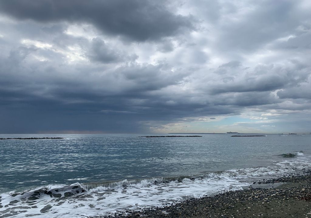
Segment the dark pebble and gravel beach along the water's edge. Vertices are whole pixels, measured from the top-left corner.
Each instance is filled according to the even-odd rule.
[[[265,184],[270,184],[269,187]],[[282,185],[279,185],[282,184]],[[213,197],[192,198],[165,207],[126,211],[95,217],[311,217],[311,171],[262,180],[244,190],[228,191]],[[258,188],[262,185],[263,188]],[[254,188],[256,187],[256,188]],[[94,217],[94,218],[95,218]]]

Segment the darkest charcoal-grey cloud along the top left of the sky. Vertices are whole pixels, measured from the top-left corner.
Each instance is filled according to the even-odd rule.
[[[136,41],[158,40],[192,30],[191,16],[175,15],[164,1],[1,1],[0,10],[17,19],[38,22],[87,22],[106,34]]]

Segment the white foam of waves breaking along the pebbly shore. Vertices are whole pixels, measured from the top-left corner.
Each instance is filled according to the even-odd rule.
[[[303,154],[303,153],[302,153]],[[308,158],[286,158],[269,167],[231,169],[187,178],[152,178],[110,183],[49,185],[1,194],[0,215],[13,217],[87,217],[128,209],[164,206],[250,185],[248,178],[273,176],[311,167]],[[156,181],[156,184],[155,184]],[[166,182],[165,182],[166,181]]]

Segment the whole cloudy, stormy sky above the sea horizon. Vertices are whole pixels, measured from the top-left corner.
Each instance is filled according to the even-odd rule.
[[[309,133],[309,0],[0,0],[0,133]]]

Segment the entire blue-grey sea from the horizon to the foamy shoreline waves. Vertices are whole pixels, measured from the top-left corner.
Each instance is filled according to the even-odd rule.
[[[65,139],[0,140],[0,217],[88,217],[164,206],[311,167],[310,135],[138,136],[146,135],[1,134]]]

